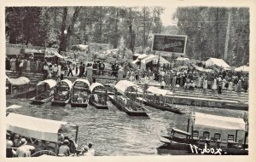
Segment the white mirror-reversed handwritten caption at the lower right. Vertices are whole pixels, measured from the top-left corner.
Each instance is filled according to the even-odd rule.
[[[189,144],[192,153],[201,153],[201,154],[217,154],[221,155],[222,149],[221,148],[208,148],[207,143],[205,143],[205,148],[198,148],[195,145]]]

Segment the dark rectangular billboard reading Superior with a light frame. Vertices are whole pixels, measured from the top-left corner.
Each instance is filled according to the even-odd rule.
[[[185,55],[187,36],[154,34],[153,51]]]

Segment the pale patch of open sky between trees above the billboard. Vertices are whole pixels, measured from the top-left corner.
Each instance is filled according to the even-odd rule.
[[[177,6],[168,6],[166,7],[164,13],[161,14],[161,20],[164,26],[173,26],[177,24],[175,21],[172,20],[172,14],[175,13],[176,9]]]

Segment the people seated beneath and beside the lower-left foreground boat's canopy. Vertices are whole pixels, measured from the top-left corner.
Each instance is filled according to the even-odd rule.
[[[94,156],[95,150],[93,145],[89,143],[80,150],[78,145],[69,139],[68,136],[61,134],[57,150],[57,156]],[[55,153],[55,143],[26,138],[19,134],[7,132],[6,134],[6,157],[31,157],[33,153],[49,150]]]

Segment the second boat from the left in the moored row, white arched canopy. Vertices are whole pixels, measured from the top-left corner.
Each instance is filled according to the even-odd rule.
[[[33,104],[44,104],[48,101],[51,101],[54,96],[54,87],[56,81],[54,79],[46,79],[40,81],[37,84],[37,94],[36,96],[29,99]]]

